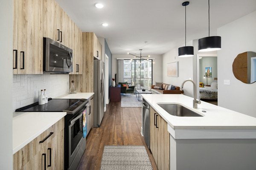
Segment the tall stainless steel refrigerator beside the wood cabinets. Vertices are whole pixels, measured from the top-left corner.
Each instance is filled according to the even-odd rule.
[[[102,60],[94,59],[93,62],[93,127],[99,127],[104,116],[105,100],[105,64]]]

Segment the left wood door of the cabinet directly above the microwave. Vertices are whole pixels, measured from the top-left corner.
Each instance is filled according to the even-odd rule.
[[[44,37],[60,41],[58,26],[58,4],[55,0],[44,0]]]

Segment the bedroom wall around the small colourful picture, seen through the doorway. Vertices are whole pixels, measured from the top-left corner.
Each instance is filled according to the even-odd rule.
[[[212,78],[204,79],[206,67],[212,67]],[[199,81],[203,82],[204,85],[211,85],[214,78],[218,76],[217,69],[217,57],[202,57],[201,59],[199,59]]]

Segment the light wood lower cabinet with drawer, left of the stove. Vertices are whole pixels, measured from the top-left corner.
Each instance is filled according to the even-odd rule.
[[[13,170],[64,169],[64,118],[13,155]]]

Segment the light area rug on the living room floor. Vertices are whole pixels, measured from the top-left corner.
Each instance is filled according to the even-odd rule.
[[[141,102],[138,101],[135,94],[124,94],[121,95],[121,107],[138,108],[141,107]]]

